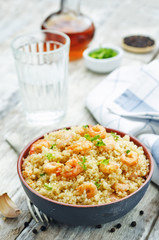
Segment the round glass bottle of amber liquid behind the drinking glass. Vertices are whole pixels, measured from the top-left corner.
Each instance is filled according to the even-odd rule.
[[[41,28],[61,31],[70,37],[70,61],[82,57],[95,31],[92,20],[80,13],[80,0],[61,0],[61,9],[48,16]]]

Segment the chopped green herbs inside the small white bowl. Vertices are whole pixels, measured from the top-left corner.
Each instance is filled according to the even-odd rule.
[[[117,54],[118,52],[112,48],[98,48],[90,52],[89,56],[96,59],[105,59],[115,57]]]

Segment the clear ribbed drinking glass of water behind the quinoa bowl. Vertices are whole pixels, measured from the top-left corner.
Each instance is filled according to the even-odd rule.
[[[52,30],[23,35],[12,42],[24,112],[29,122],[47,125],[64,117],[69,46],[66,34]]]

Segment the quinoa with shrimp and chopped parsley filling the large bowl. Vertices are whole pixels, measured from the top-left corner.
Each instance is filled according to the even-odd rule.
[[[39,194],[58,202],[99,205],[136,191],[149,173],[149,160],[130,137],[100,125],[46,134],[23,159],[22,174]]]

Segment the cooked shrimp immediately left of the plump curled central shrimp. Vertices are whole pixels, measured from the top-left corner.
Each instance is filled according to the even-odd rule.
[[[56,173],[56,176],[59,176],[62,171],[63,164],[56,162],[48,162],[43,166],[43,170],[47,174]]]

